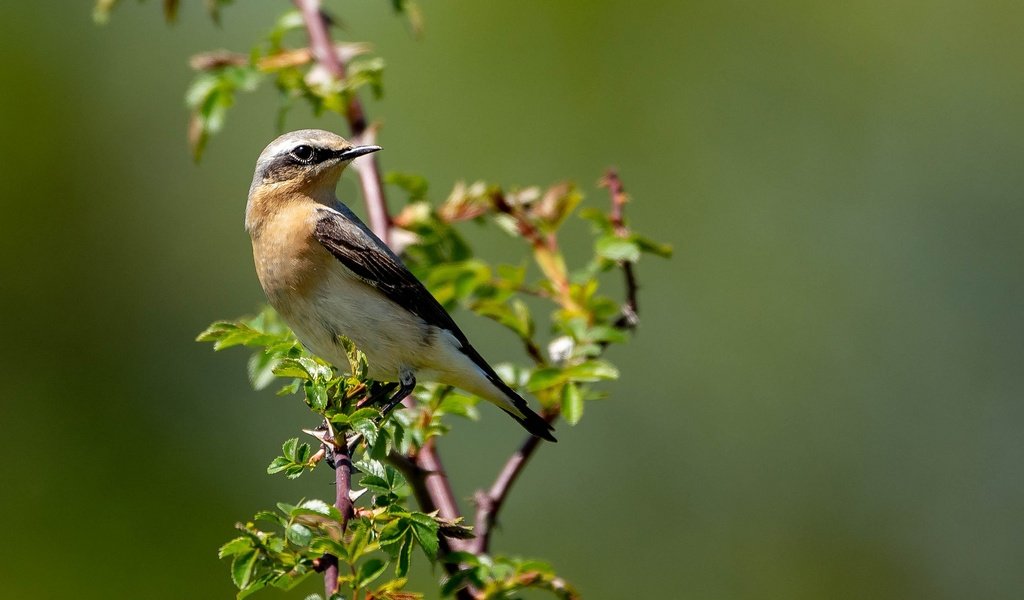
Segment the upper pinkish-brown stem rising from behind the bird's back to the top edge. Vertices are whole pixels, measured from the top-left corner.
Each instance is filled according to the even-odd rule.
[[[294,0],[295,6],[302,13],[309,35],[309,48],[316,61],[338,81],[345,79],[345,63],[338,57],[338,51],[331,40],[328,31],[328,18],[321,10],[319,0]],[[359,143],[374,143],[376,134],[373,128],[367,126],[367,117],[362,112],[362,103],[354,94],[347,97],[345,119],[352,132],[353,140]],[[391,218],[387,211],[387,199],[384,197],[384,185],[381,182],[380,166],[376,156],[361,158],[353,163],[359,175],[362,187],[362,199],[367,205],[370,228],[374,230],[385,244],[391,242]]]

